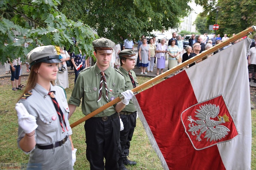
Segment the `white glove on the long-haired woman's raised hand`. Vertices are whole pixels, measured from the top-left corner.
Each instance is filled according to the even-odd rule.
[[[15,109],[18,116],[18,124],[25,133],[31,133],[38,127],[35,116],[29,114],[23,103],[16,103]]]

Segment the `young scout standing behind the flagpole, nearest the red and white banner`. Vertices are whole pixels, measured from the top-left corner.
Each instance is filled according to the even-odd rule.
[[[131,90],[138,86],[137,77],[132,69],[135,66],[135,52],[132,49],[124,49],[119,52],[121,67],[118,69],[124,76],[125,90]],[[135,165],[135,161],[127,159],[129,156],[130,141],[136,127],[136,108],[130,100],[129,104],[119,112],[124,129],[120,132],[121,156],[118,160],[119,170],[127,170],[125,165]]]

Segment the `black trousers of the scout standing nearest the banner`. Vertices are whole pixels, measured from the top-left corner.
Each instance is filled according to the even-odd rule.
[[[137,113],[131,115],[120,115],[123,122],[123,130],[120,131],[121,157],[129,155],[130,141],[133,137],[134,128],[136,127]]]

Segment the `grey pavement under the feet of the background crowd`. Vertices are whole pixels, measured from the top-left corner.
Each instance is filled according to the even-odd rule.
[[[134,52],[136,53],[136,56],[138,56],[138,50],[137,50],[137,47],[134,47]],[[137,61],[137,59],[135,59],[135,61]],[[167,71],[167,66],[168,66],[168,61],[165,62],[165,69],[163,69],[163,72]],[[26,71],[26,65],[23,64],[22,65],[22,75],[21,76],[28,76],[29,73],[27,73]],[[157,68],[154,68],[153,69],[153,72],[148,72],[147,74],[140,74],[141,73],[141,70],[140,69],[137,69],[136,66],[135,68],[133,69],[133,71],[135,72],[136,76],[146,76],[146,77],[156,77],[156,73],[157,73]],[[147,69],[146,69],[147,71]],[[70,70],[70,67],[68,67],[68,73],[69,74],[72,74],[74,73],[74,70]],[[161,73],[159,71],[159,73]],[[177,72],[179,73],[179,72]],[[167,78],[169,77],[172,77],[173,75],[170,75],[170,76],[167,76]],[[10,77],[11,78],[11,73],[8,73],[8,74],[5,74],[5,65],[2,65],[0,64],[0,78],[5,78],[5,77]],[[250,87],[256,87],[256,83],[253,82],[253,80],[251,80],[250,82]]]

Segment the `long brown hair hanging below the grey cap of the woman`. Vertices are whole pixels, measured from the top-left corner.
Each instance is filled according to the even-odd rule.
[[[26,83],[26,88],[23,91],[23,93],[21,94],[21,96],[18,98],[18,101],[20,100],[20,98],[26,94],[27,92],[31,91],[37,82],[37,71],[39,69],[39,67],[41,66],[41,62],[34,64],[33,66],[31,66],[31,70],[30,70],[30,74]],[[52,85],[55,85],[54,81],[51,81]]]

